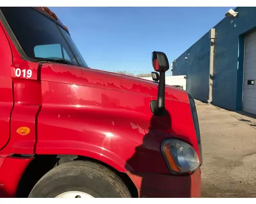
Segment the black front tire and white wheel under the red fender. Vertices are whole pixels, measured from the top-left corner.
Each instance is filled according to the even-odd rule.
[[[36,183],[29,197],[132,197],[120,177],[100,164],[73,161],[61,164]]]

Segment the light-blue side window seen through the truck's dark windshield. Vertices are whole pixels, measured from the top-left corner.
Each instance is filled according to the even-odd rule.
[[[62,50],[63,49],[63,53]],[[71,59],[66,50],[60,44],[36,45],[34,47],[34,55],[38,58],[49,59],[65,59],[71,62]]]

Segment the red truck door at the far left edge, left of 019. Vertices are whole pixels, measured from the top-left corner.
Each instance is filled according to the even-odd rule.
[[[0,149],[5,147],[10,138],[10,116],[13,107],[11,64],[11,47],[0,21]]]

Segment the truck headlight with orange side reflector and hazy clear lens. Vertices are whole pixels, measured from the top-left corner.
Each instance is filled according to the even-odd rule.
[[[196,150],[188,143],[178,139],[164,141],[162,154],[170,170],[177,173],[194,171],[200,165]]]

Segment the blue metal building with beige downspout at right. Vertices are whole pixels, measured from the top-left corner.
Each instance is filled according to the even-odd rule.
[[[194,98],[256,114],[256,7],[237,7],[173,62]]]

